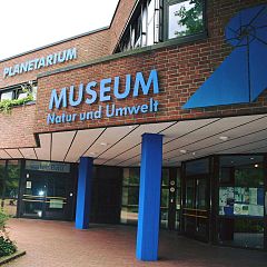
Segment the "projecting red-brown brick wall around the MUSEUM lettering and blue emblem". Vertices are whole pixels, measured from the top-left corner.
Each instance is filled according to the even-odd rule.
[[[142,52],[127,58],[119,58],[85,68],[52,75],[39,79],[38,113],[36,132],[56,131],[76,128],[95,128],[100,126],[113,126],[136,122],[152,122],[178,120],[188,118],[206,118],[220,116],[248,115],[267,111],[266,93],[249,105],[230,105],[225,107],[201,108],[182,110],[181,106],[202,85],[210,73],[221,63],[231,48],[225,42],[224,29],[229,19],[240,9],[266,1],[208,1],[208,33],[205,40],[195,43],[185,43],[168,48],[161,48]],[[63,87],[85,85],[89,81],[100,81],[103,78],[116,76],[125,77],[127,73],[135,75],[144,71],[146,76],[156,68],[159,72],[160,93],[155,99],[160,102],[158,113],[128,116],[120,118],[105,118],[89,120],[87,122],[73,122],[65,125],[47,126],[46,119],[51,89],[60,90]],[[149,97],[128,98],[115,100],[117,107],[126,105],[145,103]],[[102,105],[105,107],[105,103]],[[96,110],[98,103],[81,105],[79,108],[67,108],[60,112],[81,112]],[[59,113],[59,112],[57,112]]]

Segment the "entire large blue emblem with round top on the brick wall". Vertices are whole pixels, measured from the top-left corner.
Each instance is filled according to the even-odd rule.
[[[267,4],[235,16],[226,27],[226,40],[233,52],[184,109],[247,103],[267,89]]]

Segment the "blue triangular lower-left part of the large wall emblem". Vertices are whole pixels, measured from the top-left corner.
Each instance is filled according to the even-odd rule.
[[[182,108],[211,107],[249,101],[246,50],[246,47],[234,50]]]

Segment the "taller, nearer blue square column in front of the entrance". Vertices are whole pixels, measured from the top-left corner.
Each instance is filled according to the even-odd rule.
[[[158,259],[162,136],[142,135],[137,250],[139,260]]]

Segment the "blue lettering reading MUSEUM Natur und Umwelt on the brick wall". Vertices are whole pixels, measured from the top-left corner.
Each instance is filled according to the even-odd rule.
[[[137,98],[147,95],[159,93],[159,82],[157,70],[151,70],[146,81],[142,72],[137,72],[135,76],[127,75],[125,82],[121,82],[120,77],[102,79],[99,82],[90,81],[87,85],[80,83],[77,88],[69,86],[60,91],[52,89],[49,109],[53,112],[48,113],[47,123],[66,123],[73,121],[85,121],[112,117],[126,117],[138,113],[157,112],[159,102],[154,98],[145,100],[144,103],[134,106],[119,105],[119,101],[129,97]],[[102,102],[113,101],[102,106]],[[90,111],[73,113],[63,112],[58,115],[55,110],[67,107],[79,107],[85,103],[91,106],[99,102],[100,105]],[[118,105],[117,105],[118,103]],[[93,106],[96,107],[96,106]]]

